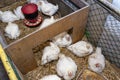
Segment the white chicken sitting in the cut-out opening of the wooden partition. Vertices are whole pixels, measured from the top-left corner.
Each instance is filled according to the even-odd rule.
[[[67,47],[72,43],[72,38],[67,32],[63,32],[55,36],[53,42],[59,47]]]

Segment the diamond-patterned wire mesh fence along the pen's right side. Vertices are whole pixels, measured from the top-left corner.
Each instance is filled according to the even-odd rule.
[[[120,67],[120,21],[93,0],[86,1],[90,4],[86,28],[88,40],[100,46],[105,57]]]

